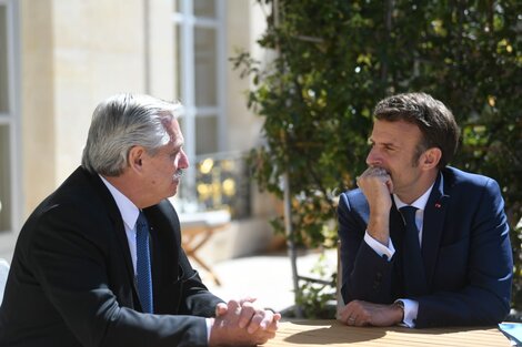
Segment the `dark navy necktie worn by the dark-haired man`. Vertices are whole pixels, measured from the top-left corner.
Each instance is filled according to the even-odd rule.
[[[404,206],[400,208],[405,223],[405,235],[402,247],[404,290],[408,296],[426,293],[424,263],[422,262],[419,229],[415,224],[416,207]]]

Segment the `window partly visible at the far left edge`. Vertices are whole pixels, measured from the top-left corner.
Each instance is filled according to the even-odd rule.
[[[0,0],[0,233],[18,227],[13,0]]]

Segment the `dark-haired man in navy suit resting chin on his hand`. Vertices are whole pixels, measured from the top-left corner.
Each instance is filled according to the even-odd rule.
[[[510,309],[513,259],[498,183],[448,166],[459,127],[423,93],[374,110],[368,169],[341,194],[342,297],[354,326],[492,325]]]

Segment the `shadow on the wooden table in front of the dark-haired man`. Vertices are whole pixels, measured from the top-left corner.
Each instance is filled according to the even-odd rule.
[[[328,327],[324,322],[314,320],[292,320],[298,326],[308,326],[303,331],[292,334],[284,338],[285,341],[295,345],[329,345],[329,344],[351,344],[370,341],[382,338],[389,333],[401,334],[422,334],[428,336],[443,335],[451,333],[465,333],[473,330],[482,330],[484,327],[456,327],[456,328],[429,328],[429,329],[410,329],[405,327],[388,327],[385,329],[379,327],[351,327],[333,320]],[[314,329],[313,326],[318,328]],[[486,327],[492,328],[492,327]]]

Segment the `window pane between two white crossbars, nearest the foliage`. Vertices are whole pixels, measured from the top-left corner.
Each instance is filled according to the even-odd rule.
[[[217,98],[215,30],[194,29],[194,89],[197,106],[213,106]]]

